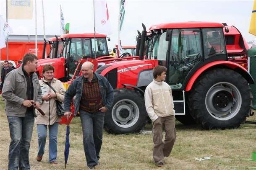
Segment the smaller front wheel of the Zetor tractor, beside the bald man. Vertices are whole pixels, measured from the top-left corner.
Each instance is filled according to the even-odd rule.
[[[147,114],[144,97],[134,90],[114,90],[114,102],[104,118],[104,129],[111,134],[137,133],[144,128]]]

